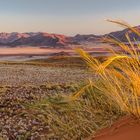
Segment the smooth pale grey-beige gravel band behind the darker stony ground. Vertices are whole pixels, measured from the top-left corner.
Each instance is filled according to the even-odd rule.
[[[0,65],[0,85],[41,85],[82,82],[92,75],[82,68]]]

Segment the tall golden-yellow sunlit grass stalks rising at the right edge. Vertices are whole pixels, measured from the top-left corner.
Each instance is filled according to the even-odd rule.
[[[128,24],[118,21],[110,22],[127,27],[140,36],[140,32]],[[116,53],[114,56],[108,57],[103,63],[98,62],[97,59],[94,60],[81,49],[78,49],[77,52],[96,73],[98,78],[96,78],[97,81],[94,81],[95,86],[103,91],[108,98],[114,100],[122,111],[133,114],[139,118],[140,48],[139,45],[134,46],[128,33],[126,33],[126,39],[129,45],[112,38],[104,38],[107,42],[114,43],[120,47],[122,51],[119,52],[119,54]],[[134,40],[136,39],[134,38]]]

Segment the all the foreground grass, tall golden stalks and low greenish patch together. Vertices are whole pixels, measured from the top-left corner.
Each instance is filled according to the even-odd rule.
[[[116,23],[140,35],[135,28]],[[128,34],[126,38],[130,45],[112,38],[104,39],[122,49],[119,53],[111,50],[113,55],[104,62],[78,49],[95,78],[74,94],[55,95],[30,106],[36,114],[42,114],[42,120],[51,127],[50,137],[83,139],[124,114],[140,118],[139,45],[135,47]]]

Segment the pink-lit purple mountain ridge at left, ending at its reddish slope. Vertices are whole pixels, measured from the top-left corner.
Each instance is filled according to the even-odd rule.
[[[0,33],[0,45],[63,47],[74,44],[70,37],[48,33]]]

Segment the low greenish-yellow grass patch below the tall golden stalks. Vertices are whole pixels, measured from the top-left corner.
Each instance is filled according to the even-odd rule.
[[[94,94],[92,94],[94,92]],[[80,97],[77,97],[80,95]],[[110,100],[92,83],[73,95],[54,95],[30,106],[35,116],[51,128],[47,138],[82,139],[110,125],[119,116],[119,106]],[[112,105],[110,105],[112,104]],[[110,119],[111,118],[111,119]]]

